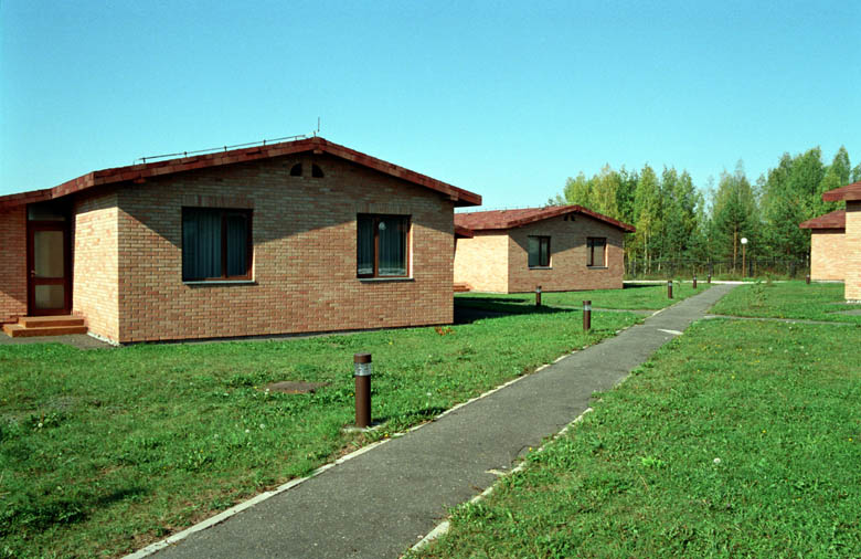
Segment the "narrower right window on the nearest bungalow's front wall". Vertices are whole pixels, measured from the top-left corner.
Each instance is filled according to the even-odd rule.
[[[410,218],[360,214],[357,219],[357,275],[406,277]]]

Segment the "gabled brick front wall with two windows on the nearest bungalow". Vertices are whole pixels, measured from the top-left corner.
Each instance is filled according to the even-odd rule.
[[[304,177],[290,177],[294,164]],[[311,161],[325,178],[311,178]],[[454,208],[330,156],[190,171],[118,191],[119,341],[450,323]],[[253,209],[252,284],[182,282],[181,208]],[[408,214],[412,278],[355,277],[358,213]]]

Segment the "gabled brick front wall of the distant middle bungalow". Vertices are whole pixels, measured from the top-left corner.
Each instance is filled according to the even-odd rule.
[[[536,285],[545,292],[621,288],[623,232],[585,215],[573,218],[551,218],[509,231],[509,293],[531,292]],[[530,235],[550,236],[550,268],[529,267]],[[586,266],[589,236],[607,239],[607,267]]]

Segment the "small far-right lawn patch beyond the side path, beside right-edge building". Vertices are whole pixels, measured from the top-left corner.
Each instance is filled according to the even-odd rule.
[[[736,287],[711,312],[732,316],[861,324],[861,316],[839,314],[840,310],[861,309],[861,305],[847,305],[843,300],[843,284],[758,283]]]

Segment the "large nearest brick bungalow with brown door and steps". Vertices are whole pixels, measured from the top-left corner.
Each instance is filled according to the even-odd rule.
[[[319,137],[94,171],[0,197],[0,323],[74,315],[115,342],[446,324],[454,209],[480,203]]]

